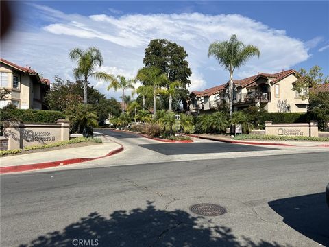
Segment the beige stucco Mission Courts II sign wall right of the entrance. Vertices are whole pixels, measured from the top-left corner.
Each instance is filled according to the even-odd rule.
[[[272,124],[272,121],[265,121],[265,134],[284,137],[318,137],[317,121],[310,121],[310,124]]]

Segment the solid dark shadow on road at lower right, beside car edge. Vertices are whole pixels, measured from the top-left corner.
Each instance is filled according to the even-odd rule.
[[[325,193],[278,199],[269,202],[283,222],[323,246],[329,246],[329,208]]]

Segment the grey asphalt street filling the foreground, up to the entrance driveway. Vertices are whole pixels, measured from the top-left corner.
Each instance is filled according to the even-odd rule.
[[[209,159],[247,152],[230,143],[164,145],[117,135],[129,148],[103,163],[130,163],[138,154],[171,160],[1,176],[1,247],[329,246],[329,152]],[[191,149],[198,159],[172,160]],[[199,203],[226,213],[192,213]]]

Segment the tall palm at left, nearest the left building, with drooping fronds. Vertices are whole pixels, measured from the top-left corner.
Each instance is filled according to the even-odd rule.
[[[77,79],[83,78],[84,82],[84,104],[88,102],[88,78],[95,80],[113,80],[114,76],[104,72],[95,72],[96,67],[103,64],[103,56],[101,51],[96,47],[89,47],[86,51],[80,48],[71,49],[69,57],[73,61],[77,61],[77,68],[73,70],[73,75]]]

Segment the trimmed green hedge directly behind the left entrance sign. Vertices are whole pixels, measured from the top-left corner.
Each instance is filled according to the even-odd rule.
[[[13,120],[23,123],[54,123],[58,119],[65,119],[65,115],[56,110],[1,110],[1,121]]]

